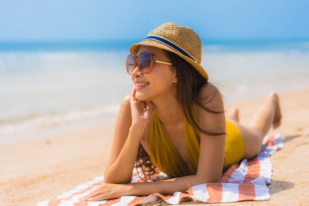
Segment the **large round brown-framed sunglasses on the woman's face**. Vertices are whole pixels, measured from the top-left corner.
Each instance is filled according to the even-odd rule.
[[[129,75],[131,75],[134,68],[138,68],[138,70],[147,74],[153,69],[154,62],[161,64],[173,65],[170,62],[163,62],[159,60],[155,60],[153,55],[149,52],[142,52],[137,57],[134,54],[129,54],[126,58],[126,71]]]

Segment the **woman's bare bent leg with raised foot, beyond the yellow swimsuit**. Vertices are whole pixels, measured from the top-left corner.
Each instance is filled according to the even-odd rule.
[[[253,115],[248,126],[239,124],[236,120],[232,121],[240,130],[244,145],[245,159],[255,157],[261,150],[263,138],[273,128],[280,126],[281,111],[279,98],[275,92],[271,92],[264,105]]]

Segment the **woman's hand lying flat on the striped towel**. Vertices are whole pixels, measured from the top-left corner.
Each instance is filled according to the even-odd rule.
[[[90,194],[81,198],[80,200],[85,201],[99,201],[114,199],[121,196],[125,196],[125,189],[128,186],[125,184],[113,184],[113,183],[102,183],[99,187],[91,191]]]

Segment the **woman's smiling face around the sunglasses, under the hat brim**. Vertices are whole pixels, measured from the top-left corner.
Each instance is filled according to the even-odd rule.
[[[142,52],[149,52],[154,60],[170,62],[162,49],[142,46],[136,56]],[[141,73],[134,68],[131,73],[132,81],[136,89],[136,98],[141,101],[153,101],[154,98],[164,98],[166,95],[174,95],[177,88],[176,69],[173,65],[154,62],[150,73]]]

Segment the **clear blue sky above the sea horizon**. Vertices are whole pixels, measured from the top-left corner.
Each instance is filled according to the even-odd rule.
[[[309,40],[309,1],[0,0],[0,41],[140,40],[165,22],[201,39]]]

